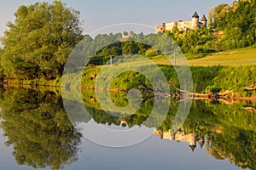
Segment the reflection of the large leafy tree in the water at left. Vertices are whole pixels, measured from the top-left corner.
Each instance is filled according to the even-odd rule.
[[[2,127],[16,161],[59,169],[77,160],[81,134],[69,122],[55,94],[8,89],[0,99]]]

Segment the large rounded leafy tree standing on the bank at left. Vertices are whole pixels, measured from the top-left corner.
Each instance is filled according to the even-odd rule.
[[[20,6],[2,38],[1,65],[9,78],[61,76],[66,59],[82,39],[79,11],[61,1]]]

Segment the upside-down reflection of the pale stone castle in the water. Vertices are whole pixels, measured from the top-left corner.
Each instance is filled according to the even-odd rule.
[[[183,133],[178,131],[175,134],[171,134],[170,131],[163,132],[162,130],[154,129],[154,135],[160,136],[160,139],[176,140],[178,142],[189,142],[189,147],[191,148],[192,151],[195,150],[196,141],[198,142],[201,148],[205,144],[205,138],[198,138],[194,133]]]

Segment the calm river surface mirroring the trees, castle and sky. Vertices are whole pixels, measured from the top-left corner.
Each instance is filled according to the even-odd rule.
[[[113,93],[112,99],[116,105],[127,105],[125,94]],[[73,116],[67,116],[63,100],[73,108]],[[102,111],[93,91],[84,92],[83,101],[77,103],[72,94],[62,99],[53,89],[1,89],[0,169],[256,168],[253,102],[193,102],[186,122],[172,134],[177,105],[170,107],[160,127],[154,127],[157,119],[146,122],[153,99],[145,100],[131,116]],[[88,113],[79,111],[84,106]],[[137,129],[123,142],[144,134],[147,138],[129,147],[102,146],[119,138],[109,139],[99,126],[123,132]]]

